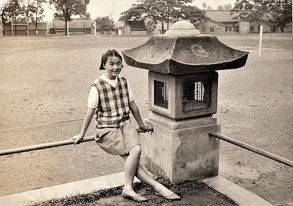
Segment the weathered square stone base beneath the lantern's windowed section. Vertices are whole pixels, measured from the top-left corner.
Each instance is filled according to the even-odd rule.
[[[154,127],[147,134],[145,167],[171,182],[196,180],[218,175],[219,139],[209,131],[220,132],[212,116],[175,121],[150,113],[146,124]]]

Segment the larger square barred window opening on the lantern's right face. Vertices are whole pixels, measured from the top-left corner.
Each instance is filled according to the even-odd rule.
[[[183,112],[193,112],[211,107],[211,81],[188,81],[183,85]]]

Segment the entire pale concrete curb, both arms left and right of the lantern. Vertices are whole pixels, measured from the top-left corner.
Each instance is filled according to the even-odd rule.
[[[139,182],[139,180],[134,178],[134,182]],[[221,176],[207,178],[203,182],[207,183],[219,193],[228,196],[240,206],[272,206],[261,197]],[[120,172],[2,196],[0,197],[0,206],[27,206],[51,199],[88,194],[97,190],[119,187],[123,184],[124,172]]]

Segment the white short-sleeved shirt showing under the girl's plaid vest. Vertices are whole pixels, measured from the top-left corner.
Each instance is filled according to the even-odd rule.
[[[111,80],[111,79],[108,79],[105,74],[103,74],[102,76],[100,76],[100,78],[106,81],[107,83],[109,83],[112,87],[116,87],[118,83],[117,77]],[[98,82],[98,79],[94,81],[94,83],[97,83],[97,82]],[[129,101],[131,102],[133,101],[133,92],[130,88],[128,81],[127,81],[127,85],[128,85]],[[91,86],[89,94],[88,94],[88,99],[87,99],[87,107],[96,109],[98,107],[98,104],[99,104],[99,91],[95,86]]]

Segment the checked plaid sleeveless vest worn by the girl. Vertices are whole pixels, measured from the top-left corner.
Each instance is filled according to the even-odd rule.
[[[121,127],[129,122],[129,93],[124,77],[117,77],[116,87],[99,78],[93,84],[99,91],[99,105],[96,109],[96,127]]]

